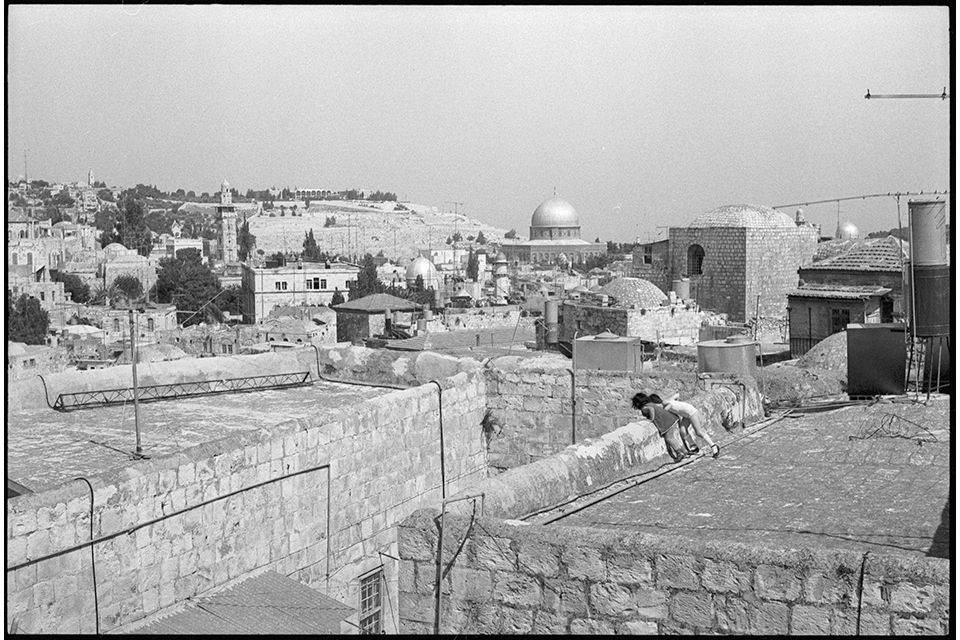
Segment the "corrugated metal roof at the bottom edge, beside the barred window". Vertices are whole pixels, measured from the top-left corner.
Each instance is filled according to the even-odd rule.
[[[353,607],[266,571],[221,592],[192,598],[186,608],[128,633],[146,634],[339,634]]]

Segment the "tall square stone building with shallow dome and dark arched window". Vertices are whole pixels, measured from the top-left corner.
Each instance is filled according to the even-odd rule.
[[[813,260],[819,231],[763,206],[728,205],[670,227],[670,280],[690,278],[704,310],[745,322],[786,315],[797,269]]]

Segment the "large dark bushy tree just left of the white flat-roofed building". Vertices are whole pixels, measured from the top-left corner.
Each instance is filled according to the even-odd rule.
[[[197,324],[218,310],[211,300],[220,292],[220,281],[203,264],[200,251],[181,249],[173,258],[162,258],[153,296],[158,302],[177,305],[177,319],[184,326]]]

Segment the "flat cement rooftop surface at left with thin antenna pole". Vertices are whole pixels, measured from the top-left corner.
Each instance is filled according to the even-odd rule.
[[[391,389],[318,382],[309,387],[161,400],[140,405],[140,442],[154,458],[240,431],[347,407]],[[95,442],[91,442],[95,441]],[[97,444],[100,443],[100,444]],[[34,492],[134,464],[133,404],[7,414],[7,478]]]

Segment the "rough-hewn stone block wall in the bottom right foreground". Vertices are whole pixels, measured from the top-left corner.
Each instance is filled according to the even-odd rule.
[[[434,629],[438,515],[424,509],[400,527],[405,633]],[[464,514],[446,515],[444,528],[442,633],[949,634],[950,561],[940,558]]]

